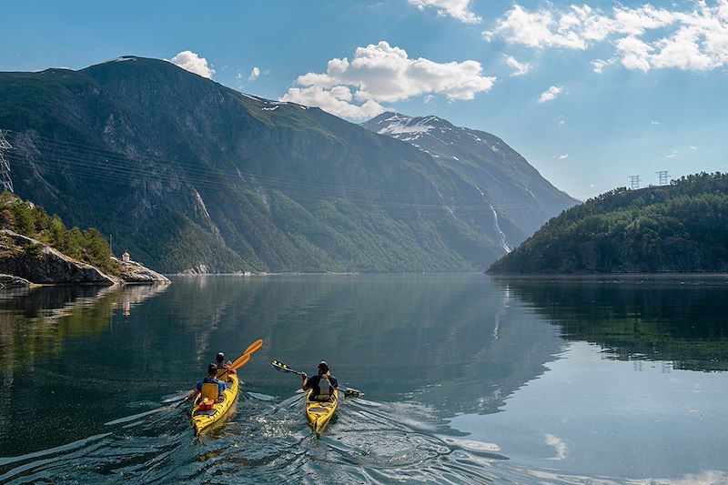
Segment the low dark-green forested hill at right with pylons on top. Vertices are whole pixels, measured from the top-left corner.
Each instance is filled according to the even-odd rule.
[[[491,273],[728,271],[728,174],[592,198],[551,219]]]

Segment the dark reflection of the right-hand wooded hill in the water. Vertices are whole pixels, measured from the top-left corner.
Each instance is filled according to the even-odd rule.
[[[713,276],[498,278],[569,340],[614,359],[728,370],[728,278]],[[639,364],[635,364],[639,367]]]

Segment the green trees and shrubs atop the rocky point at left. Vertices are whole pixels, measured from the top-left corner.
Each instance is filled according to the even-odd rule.
[[[0,225],[38,239],[66,256],[94,265],[106,273],[119,273],[118,265],[111,259],[111,249],[98,230],[68,229],[60,217],[49,216],[43,207],[34,206],[9,192],[0,195]],[[23,250],[26,256],[36,257],[42,248],[39,244],[29,244]]]

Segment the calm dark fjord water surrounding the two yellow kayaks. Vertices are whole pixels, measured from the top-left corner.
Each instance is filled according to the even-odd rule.
[[[241,369],[196,438],[192,387]],[[298,377],[349,387],[321,440]],[[728,482],[728,279],[175,278],[0,293],[0,482]]]

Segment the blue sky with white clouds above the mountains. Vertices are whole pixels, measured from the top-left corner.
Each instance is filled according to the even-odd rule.
[[[501,136],[574,197],[728,170],[728,0],[35,1],[3,16],[3,71],[148,56],[354,122],[437,115]]]

